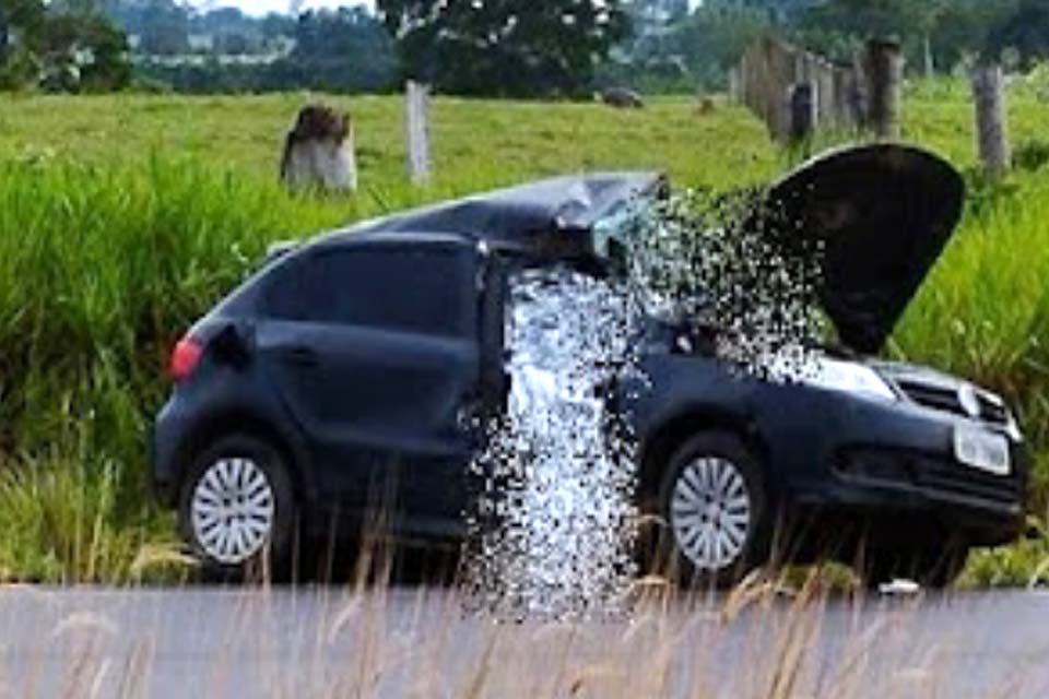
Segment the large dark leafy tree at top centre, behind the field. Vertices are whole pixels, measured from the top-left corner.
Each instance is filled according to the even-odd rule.
[[[378,0],[405,76],[464,95],[579,95],[628,32],[621,0]]]

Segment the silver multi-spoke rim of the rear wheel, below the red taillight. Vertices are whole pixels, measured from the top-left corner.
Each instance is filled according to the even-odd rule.
[[[191,501],[193,535],[208,556],[243,564],[267,545],[275,502],[266,473],[251,459],[220,459],[197,482]]]

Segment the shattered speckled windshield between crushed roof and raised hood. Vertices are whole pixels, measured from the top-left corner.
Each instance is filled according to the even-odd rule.
[[[826,335],[818,245],[785,246],[753,224],[764,202],[761,190],[636,198],[594,225],[594,251],[646,315],[716,331],[726,358],[764,365],[768,356],[822,344]]]

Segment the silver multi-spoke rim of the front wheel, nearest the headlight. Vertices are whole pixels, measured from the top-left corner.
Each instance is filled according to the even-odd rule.
[[[671,496],[671,524],[679,548],[699,570],[735,564],[751,526],[751,494],[731,461],[696,459],[682,469]]]

